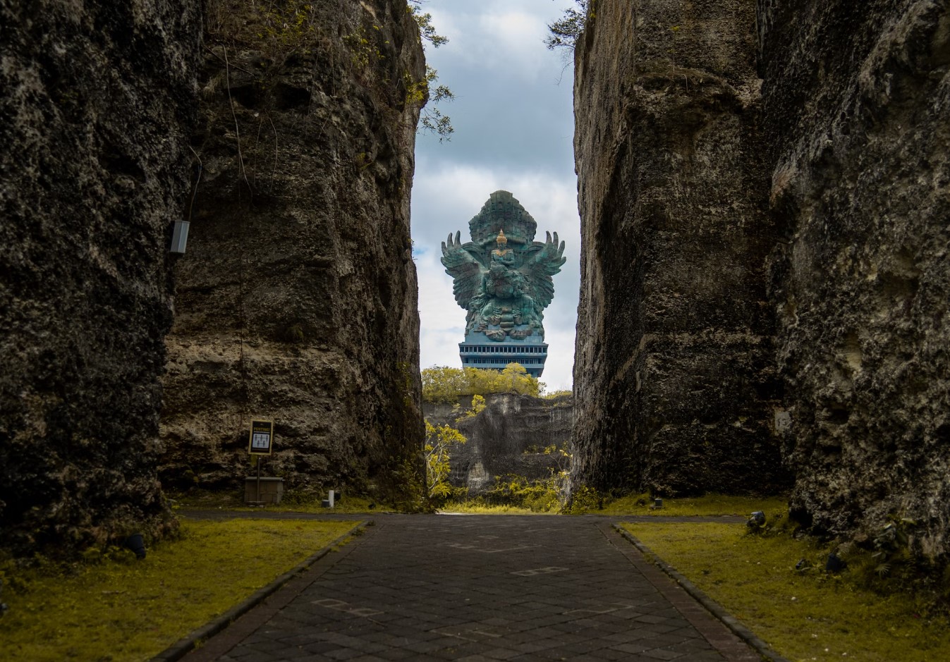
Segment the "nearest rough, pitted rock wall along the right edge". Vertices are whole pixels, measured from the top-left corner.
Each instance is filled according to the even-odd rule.
[[[761,3],[793,512],[950,546],[950,13]]]

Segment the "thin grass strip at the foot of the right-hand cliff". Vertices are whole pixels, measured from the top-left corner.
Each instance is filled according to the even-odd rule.
[[[706,494],[702,497],[682,499],[663,499],[662,508],[653,508],[653,500],[647,494],[632,494],[604,503],[602,510],[591,509],[595,515],[697,515],[714,517],[718,515],[741,515],[749,517],[753,511],[761,510],[769,517],[788,512],[788,499],[785,497],[733,497],[725,494]]]

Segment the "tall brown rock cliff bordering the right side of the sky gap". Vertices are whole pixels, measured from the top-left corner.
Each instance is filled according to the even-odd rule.
[[[578,43],[574,484],[786,484],[750,2],[597,6]]]

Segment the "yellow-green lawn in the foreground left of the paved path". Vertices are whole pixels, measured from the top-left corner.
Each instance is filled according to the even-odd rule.
[[[354,521],[181,522],[137,560],[112,548],[68,568],[2,575],[10,611],[0,619],[9,662],[147,660],[340,538]]]

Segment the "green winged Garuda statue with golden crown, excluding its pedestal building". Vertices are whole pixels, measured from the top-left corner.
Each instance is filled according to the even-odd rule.
[[[538,223],[507,191],[491,194],[468,221],[472,240],[461,232],[442,244],[442,263],[455,279],[453,293],[466,309],[466,335],[482,331],[491,340],[544,337],[543,311],[554,298],[551,276],[566,258],[558,233],[535,241]]]

